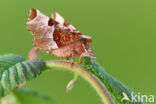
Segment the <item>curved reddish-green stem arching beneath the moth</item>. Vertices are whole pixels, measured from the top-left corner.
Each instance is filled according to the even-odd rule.
[[[113,104],[113,101],[110,95],[108,94],[108,91],[103,86],[103,84],[97,79],[97,77],[95,77],[93,74],[88,72],[83,67],[65,61],[47,61],[46,67],[48,69],[62,68],[77,73],[82,78],[86,79],[93,86],[93,88],[97,91],[97,93],[101,97],[101,100],[103,101],[104,104]]]

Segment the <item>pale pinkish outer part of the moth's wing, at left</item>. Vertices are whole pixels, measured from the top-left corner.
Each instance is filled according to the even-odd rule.
[[[58,48],[56,42],[53,40],[55,25],[52,24],[53,26],[49,26],[49,21],[55,23],[54,20],[51,20],[40,11],[31,9],[26,26],[34,36],[34,45],[47,52]]]

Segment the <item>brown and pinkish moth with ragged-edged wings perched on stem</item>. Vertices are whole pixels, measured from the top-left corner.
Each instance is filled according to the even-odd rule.
[[[37,9],[30,9],[26,28],[34,37],[34,46],[45,52],[65,59],[93,56],[89,48],[91,37],[82,35],[58,13],[50,18]]]

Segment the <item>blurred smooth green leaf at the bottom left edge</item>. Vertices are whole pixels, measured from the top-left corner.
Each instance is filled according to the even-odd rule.
[[[18,89],[1,100],[2,104],[53,104],[52,99],[33,90]]]

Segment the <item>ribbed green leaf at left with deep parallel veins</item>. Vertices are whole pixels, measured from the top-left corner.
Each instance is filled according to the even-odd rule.
[[[13,54],[0,56],[0,97],[37,77],[43,69],[42,60],[25,60]]]

